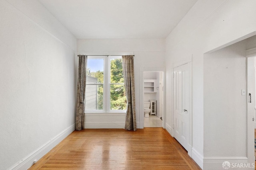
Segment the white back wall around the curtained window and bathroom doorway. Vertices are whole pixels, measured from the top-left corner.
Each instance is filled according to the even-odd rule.
[[[140,68],[164,67],[165,40],[164,39],[78,39],[78,54],[115,54],[133,53],[135,101],[137,128],[140,128]],[[125,113],[97,114],[85,116],[86,128],[124,128]],[[141,113],[144,114],[144,113]]]

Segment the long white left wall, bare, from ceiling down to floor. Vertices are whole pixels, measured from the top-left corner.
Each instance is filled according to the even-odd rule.
[[[0,169],[27,169],[74,131],[76,38],[38,1],[0,16]]]

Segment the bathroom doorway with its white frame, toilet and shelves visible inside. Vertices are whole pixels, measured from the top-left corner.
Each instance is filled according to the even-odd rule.
[[[145,84],[144,84],[144,80],[145,80]],[[162,68],[162,67],[140,68],[140,128],[141,129],[143,129],[144,127],[165,128],[165,117],[166,117],[165,98],[166,98],[165,68]],[[148,117],[145,117],[145,112],[144,112],[145,102],[150,103],[149,106],[146,106],[146,107],[149,107],[150,109],[150,112],[148,113]],[[152,109],[155,109],[155,111],[152,111]]]

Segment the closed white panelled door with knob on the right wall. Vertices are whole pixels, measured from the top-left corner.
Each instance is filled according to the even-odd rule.
[[[186,149],[189,146],[190,66],[174,68],[174,138]]]

